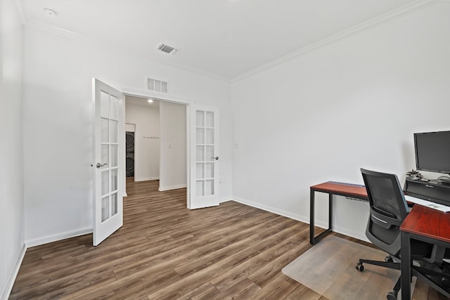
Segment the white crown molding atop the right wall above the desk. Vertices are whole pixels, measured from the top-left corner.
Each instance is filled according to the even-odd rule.
[[[264,65],[261,65],[259,67],[256,67],[253,70],[250,70],[248,72],[245,72],[243,74],[240,74],[236,77],[233,77],[231,79],[231,83],[240,81],[242,79],[245,79],[247,77],[252,76],[253,74],[257,74],[259,72],[262,72],[264,70],[270,69],[271,67],[275,67],[276,65],[280,65],[281,63],[284,63],[285,61],[292,60],[293,58],[297,58],[298,56],[301,56],[304,53],[307,53],[309,51],[316,50],[317,48],[320,48],[322,46],[328,45],[333,43],[333,41],[338,41],[339,39],[343,39],[344,37],[348,37],[352,34],[356,34],[358,32],[361,32],[362,30],[366,30],[369,27],[373,27],[375,25],[378,25],[382,22],[385,22],[387,20],[390,20],[397,15],[401,15],[403,13],[406,13],[407,11],[411,11],[415,8],[419,8],[421,6],[425,6],[426,4],[430,4],[432,2],[439,2],[439,1],[450,1],[450,0],[416,0],[411,2],[410,4],[406,4],[404,6],[401,6],[399,8],[394,9],[393,11],[390,11],[388,13],[385,13],[383,15],[379,15],[378,17],[372,18],[371,20],[368,20],[366,22],[362,22],[359,25],[355,25],[353,27],[348,28],[347,30],[343,30],[342,32],[338,32],[337,34],[330,35],[329,37],[326,37],[325,39],[321,39],[320,41],[316,41],[313,44],[309,44],[308,46],[304,46],[303,48],[300,48],[299,50],[289,53],[286,56],[282,56],[281,58],[277,58],[276,60],[272,60],[269,63],[265,63]]]

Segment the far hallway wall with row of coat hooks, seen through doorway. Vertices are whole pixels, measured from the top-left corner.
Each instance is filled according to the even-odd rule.
[[[145,100],[144,100],[144,103]],[[134,181],[160,178],[160,109],[126,104],[125,122],[136,124],[134,133]]]

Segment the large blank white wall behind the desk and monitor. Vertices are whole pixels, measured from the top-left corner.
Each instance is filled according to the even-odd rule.
[[[449,16],[436,1],[234,82],[233,198],[309,221],[310,185],[403,183],[413,133],[450,129]],[[364,239],[368,204],[336,202],[335,229]]]

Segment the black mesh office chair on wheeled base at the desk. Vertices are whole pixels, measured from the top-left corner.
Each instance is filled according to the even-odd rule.
[[[385,174],[361,169],[361,174],[366,185],[370,216],[366,227],[366,236],[375,246],[387,252],[389,256],[385,261],[372,261],[359,259],[356,269],[363,271],[363,263],[375,266],[383,266],[400,270],[400,226],[409,213],[409,207],[404,198],[399,179],[395,174]],[[411,274],[425,280],[429,285],[446,296],[448,292],[437,282],[450,280],[450,275],[444,274],[439,268],[430,268],[442,264],[442,259],[447,257],[445,248],[433,246],[426,242],[411,240],[411,258],[422,261],[422,266],[413,266]],[[425,268],[425,265],[427,267]],[[442,268],[442,266],[441,266]],[[432,281],[430,277],[432,276]],[[439,280],[436,280],[439,278]],[[387,293],[387,299],[397,299],[401,287],[401,278],[397,280],[392,292]]]

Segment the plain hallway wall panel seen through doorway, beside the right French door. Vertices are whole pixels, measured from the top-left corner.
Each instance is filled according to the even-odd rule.
[[[161,102],[160,190],[186,187],[186,105]]]

